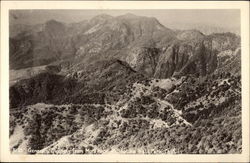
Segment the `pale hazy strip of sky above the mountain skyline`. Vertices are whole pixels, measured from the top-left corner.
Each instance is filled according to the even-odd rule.
[[[240,10],[237,9],[12,10],[10,11],[10,23],[39,24],[50,19],[72,23],[88,20],[99,14],[118,16],[126,13],[155,17],[164,26],[177,29],[193,24],[240,28]]]

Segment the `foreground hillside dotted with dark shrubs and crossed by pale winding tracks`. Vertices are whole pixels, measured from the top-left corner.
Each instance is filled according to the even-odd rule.
[[[225,77],[143,80],[127,86],[113,105],[37,104],[13,110],[11,149],[50,154],[241,153],[240,78]],[[15,132],[22,134],[16,137]]]

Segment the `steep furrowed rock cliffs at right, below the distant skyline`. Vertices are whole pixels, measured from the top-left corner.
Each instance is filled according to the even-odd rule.
[[[158,78],[181,74],[205,76],[216,70],[217,55],[220,52],[226,49],[235,50],[239,45],[239,38],[230,33],[215,36],[204,36],[200,33],[197,36],[192,35],[193,33],[181,33],[184,35],[182,40],[172,42],[167,47],[151,46],[154,49],[151,51],[145,50],[150,49],[148,47],[132,50],[126,61],[136,70],[143,67],[146,74]]]

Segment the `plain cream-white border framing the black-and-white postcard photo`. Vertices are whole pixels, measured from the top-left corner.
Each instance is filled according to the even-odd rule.
[[[11,155],[9,152],[9,9],[240,9],[243,153],[220,155]],[[249,162],[249,2],[247,1],[4,1],[1,2],[0,161]]]

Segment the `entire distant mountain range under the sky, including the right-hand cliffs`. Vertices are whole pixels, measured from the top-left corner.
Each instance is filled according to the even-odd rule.
[[[98,15],[89,21],[69,25],[49,20],[40,25],[39,29],[22,32],[10,38],[11,68],[68,63],[67,65],[72,66],[63,68],[74,71],[84,69],[97,60],[110,58],[126,61],[136,71],[142,70],[149,76],[169,77],[174,73],[181,73],[181,69],[190,69],[184,68],[188,67],[186,63],[192,64],[196,61],[187,58],[194,55],[195,49],[199,48],[202,42],[206,44],[204,50],[208,52],[222,43],[225,43],[223,46],[227,46],[226,49],[237,47],[239,44],[239,37],[234,34],[204,35],[197,30],[175,32],[164,27],[155,18],[133,14],[118,17]],[[180,51],[182,54],[178,54],[178,51],[171,50],[177,47],[181,47],[181,51],[189,52]],[[220,52],[221,49],[217,51]],[[176,54],[180,60],[177,61],[178,65],[169,65],[176,62],[170,61],[169,56]],[[212,55],[213,61],[209,62],[216,65],[216,55]],[[211,59],[209,55],[207,57]],[[161,61],[158,62],[159,58]],[[214,67],[208,67],[207,71],[213,71]],[[162,75],[161,71],[164,71],[165,75]],[[197,68],[192,72],[194,71],[197,71]]]

